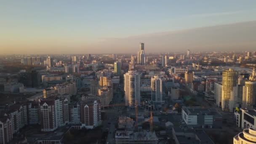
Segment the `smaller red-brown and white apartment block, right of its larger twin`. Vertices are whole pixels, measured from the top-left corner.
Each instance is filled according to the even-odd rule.
[[[101,102],[87,98],[80,102],[82,127],[94,128],[101,124]]]

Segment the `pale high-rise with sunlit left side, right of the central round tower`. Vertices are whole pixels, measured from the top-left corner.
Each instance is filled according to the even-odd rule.
[[[163,82],[165,78],[161,75],[155,75],[151,78],[151,100],[155,102],[163,103],[163,97],[165,95],[163,90]]]

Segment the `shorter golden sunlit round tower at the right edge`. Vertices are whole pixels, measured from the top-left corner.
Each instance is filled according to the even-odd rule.
[[[247,81],[243,86],[243,108],[251,109],[256,104],[256,81]]]

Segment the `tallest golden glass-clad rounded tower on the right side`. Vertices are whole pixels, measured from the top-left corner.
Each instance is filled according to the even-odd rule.
[[[222,73],[221,97],[222,110],[232,112],[237,107],[238,72],[234,69],[229,69]]]

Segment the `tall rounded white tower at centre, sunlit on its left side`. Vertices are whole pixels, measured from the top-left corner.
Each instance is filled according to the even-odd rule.
[[[141,75],[136,71],[128,71],[124,74],[125,106],[135,107],[140,105]]]

